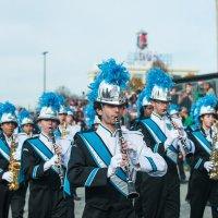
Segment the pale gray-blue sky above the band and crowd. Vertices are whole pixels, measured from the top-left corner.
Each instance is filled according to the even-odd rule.
[[[135,33],[148,33],[150,50],[171,53],[172,66],[216,70],[214,0],[0,1],[0,101],[36,105],[43,90],[65,85],[87,90],[87,72],[135,50]]]

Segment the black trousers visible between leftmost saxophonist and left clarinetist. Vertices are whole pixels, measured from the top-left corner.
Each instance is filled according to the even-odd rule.
[[[26,190],[28,184],[23,184],[17,191],[14,191],[11,197],[12,218],[23,218]]]

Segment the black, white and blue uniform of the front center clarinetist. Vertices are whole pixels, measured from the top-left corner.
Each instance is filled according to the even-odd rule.
[[[143,135],[136,131],[123,131],[124,138],[135,146],[140,169],[150,175],[161,177],[167,165],[161,156],[154,154],[144,143]],[[135,217],[132,202],[126,198],[126,173],[118,168],[108,178],[108,166],[112,156],[119,154],[118,132],[111,133],[102,124],[96,131],[81,132],[75,135],[68,166],[71,185],[85,186],[85,209],[83,218],[95,217]]]

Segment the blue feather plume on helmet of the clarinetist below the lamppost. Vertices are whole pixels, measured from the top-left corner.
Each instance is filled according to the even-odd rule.
[[[43,107],[51,107],[53,110],[58,111],[60,109],[59,97],[56,93],[46,92],[39,97],[38,110]]]

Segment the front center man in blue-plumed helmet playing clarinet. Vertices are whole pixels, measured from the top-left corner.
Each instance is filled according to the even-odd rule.
[[[126,167],[161,177],[167,166],[158,154],[154,154],[144,143],[140,132],[122,131],[124,142],[120,142],[116,120],[122,117],[126,99],[124,89],[129,73],[113,59],[99,64],[99,74],[90,85],[87,116],[93,124],[95,114],[100,119],[97,130],[80,132],[75,135],[68,166],[68,179],[72,186],[85,186],[86,204],[83,218],[135,217],[128,191]],[[122,152],[126,150],[129,155]],[[130,157],[132,158],[130,158]],[[129,159],[130,158],[130,159]],[[132,174],[134,175],[134,173]],[[134,177],[131,180],[134,181]]]

